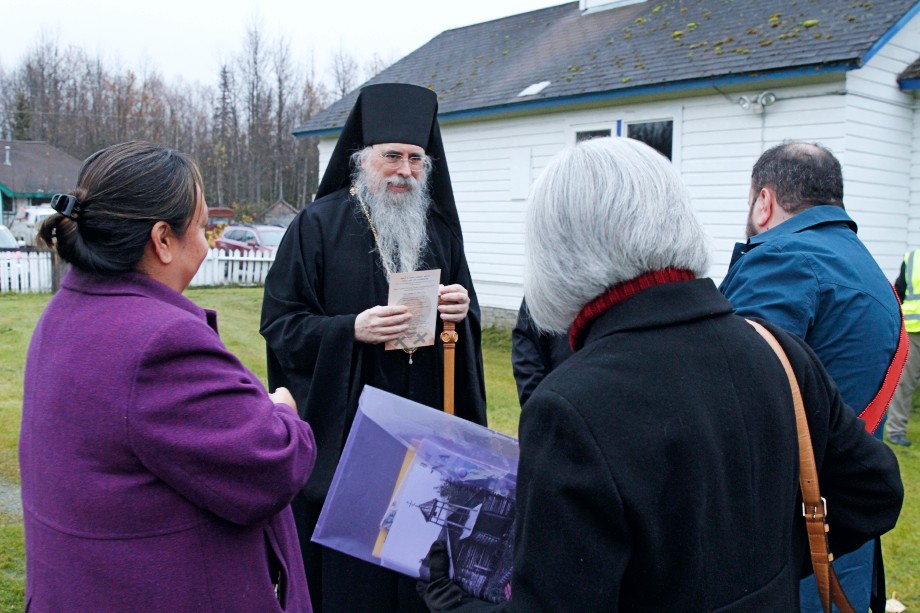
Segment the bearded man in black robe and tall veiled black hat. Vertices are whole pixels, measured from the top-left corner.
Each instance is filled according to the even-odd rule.
[[[291,390],[318,449],[292,503],[315,611],[427,611],[413,580],[310,542],[364,385],[443,409],[440,346],[384,349],[411,318],[387,306],[389,274],[440,269],[436,337],[443,321],[459,333],[456,414],[486,423],[479,304],[437,104],[415,85],[361,91],[317,199],[291,223],[265,281],[269,386]]]

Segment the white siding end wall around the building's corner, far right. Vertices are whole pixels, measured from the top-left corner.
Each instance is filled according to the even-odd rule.
[[[910,210],[916,103],[896,80],[918,55],[920,17],[915,17],[846,80],[845,201],[860,238],[889,279],[898,272],[909,235],[920,238],[920,216]],[[913,177],[916,170],[914,165]]]

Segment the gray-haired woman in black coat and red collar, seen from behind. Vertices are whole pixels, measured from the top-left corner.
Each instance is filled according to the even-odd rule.
[[[520,423],[511,600],[447,577],[434,611],[795,611],[810,569],[789,382],[710,279],[705,235],[667,159],[628,139],[559,154],[534,186],[525,297],[576,353]],[[892,527],[903,487],[817,358],[777,337],[802,390],[830,547]]]

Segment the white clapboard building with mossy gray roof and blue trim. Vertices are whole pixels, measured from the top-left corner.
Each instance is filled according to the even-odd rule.
[[[670,150],[717,282],[743,239],[757,157],[784,140],[820,142],[893,279],[920,246],[918,58],[916,0],[582,0],[446,31],[368,83],[438,92],[467,258],[495,321],[494,309],[520,304],[532,181],[598,134]],[[321,137],[321,170],[356,96],[295,132]]]

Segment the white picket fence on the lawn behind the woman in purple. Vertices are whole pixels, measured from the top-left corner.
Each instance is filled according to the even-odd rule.
[[[193,287],[262,285],[274,255],[211,249],[192,279]],[[0,251],[0,292],[50,292],[50,251]]]

